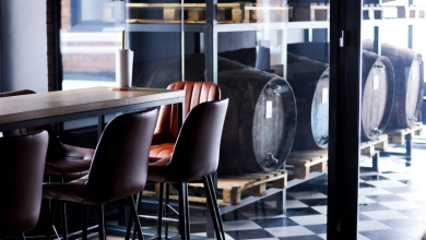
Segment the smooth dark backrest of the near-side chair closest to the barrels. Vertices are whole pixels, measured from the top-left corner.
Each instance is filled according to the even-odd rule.
[[[228,99],[206,101],[189,112],[171,155],[168,169],[173,172],[167,178],[186,182],[217,169],[227,107]]]

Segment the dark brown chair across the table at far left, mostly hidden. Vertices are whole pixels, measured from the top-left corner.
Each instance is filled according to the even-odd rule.
[[[35,94],[34,91],[21,89],[0,93],[0,97]],[[49,133],[49,146],[46,157],[45,173],[79,178],[87,175],[94,149],[76,147],[59,142],[52,125],[19,129],[9,134],[23,134],[34,130],[46,130]]]

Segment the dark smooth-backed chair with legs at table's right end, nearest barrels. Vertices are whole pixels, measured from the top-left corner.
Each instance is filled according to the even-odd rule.
[[[225,239],[211,175],[218,166],[218,153],[228,99],[199,104],[189,112],[170,156],[149,166],[147,180],[173,183],[179,191],[181,239],[190,239],[187,182],[202,179],[217,239]],[[163,203],[163,187],[159,190]],[[163,204],[158,211],[158,233]]]

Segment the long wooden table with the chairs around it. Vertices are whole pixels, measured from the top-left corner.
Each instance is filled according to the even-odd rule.
[[[108,87],[58,91],[0,98],[0,132],[168,104],[185,104],[185,91]]]

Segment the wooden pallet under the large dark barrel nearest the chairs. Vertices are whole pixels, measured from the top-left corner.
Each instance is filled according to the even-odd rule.
[[[217,179],[217,190],[222,192],[223,199],[217,200],[221,205],[238,205],[241,196],[262,196],[267,194],[267,187],[285,189],[287,184],[287,171],[284,169],[261,172],[247,173],[241,176],[221,177]],[[158,195],[156,192],[144,191],[146,195]],[[189,192],[204,193],[202,183],[189,183]],[[171,200],[177,200],[177,195],[170,195]],[[204,196],[189,196],[190,202],[205,203]]]

